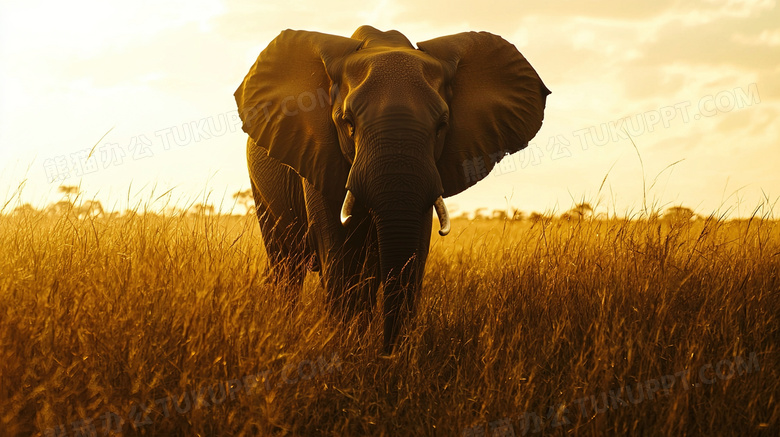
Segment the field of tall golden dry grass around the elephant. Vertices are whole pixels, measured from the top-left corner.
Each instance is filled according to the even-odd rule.
[[[252,217],[0,216],[0,434],[780,430],[776,221],[455,220],[390,358],[290,302]]]

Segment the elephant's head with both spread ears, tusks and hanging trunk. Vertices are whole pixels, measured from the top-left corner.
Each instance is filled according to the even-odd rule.
[[[244,130],[341,207],[347,226],[353,205],[369,211],[391,281],[418,250],[434,204],[445,234],[442,197],[524,148],[549,94],[496,35],[418,47],[369,26],[351,38],[286,30],[235,93]]]

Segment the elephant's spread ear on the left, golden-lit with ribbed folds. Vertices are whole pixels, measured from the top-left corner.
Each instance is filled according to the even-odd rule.
[[[349,163],[331,120],[331,75],[361,41],[285,30],[235,92],[244,132],[328,197],[344,198]]]

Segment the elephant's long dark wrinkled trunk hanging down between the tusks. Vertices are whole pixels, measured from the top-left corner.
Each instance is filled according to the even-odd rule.
[[[376,224],[379,263],[384,283],[385,352],[390,353],[404,321],[414,309],[430,245],[432,207],[443,188],[432,153],[397,135],[377,135],[356,154],[347,180],[342,217],[356,202]],[[443,208],[446,209],[446,208]],[[441,211],[446,232],[448,216]]]

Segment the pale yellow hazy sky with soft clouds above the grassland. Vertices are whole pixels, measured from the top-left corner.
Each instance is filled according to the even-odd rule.
[[[78,185],[111,210],[229,208],[249,187],[233,92],[257,55],[287,28],[363,24],[501,35],[552,90],[529,147],[451,213],[740,217],[780,196],[775,1],[0,0],[0,207]]]

